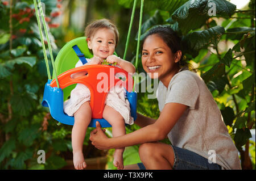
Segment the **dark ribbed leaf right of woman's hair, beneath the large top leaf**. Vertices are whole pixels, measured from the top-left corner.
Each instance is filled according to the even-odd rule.
[[[185,35],[182,40],[185,52],[193,54],[193,52],[198,52],[201,48],[210,44],[217,47],[218,41],[224,32],[224,27],[216,26],[207,30],[188,33],[188,35]]]

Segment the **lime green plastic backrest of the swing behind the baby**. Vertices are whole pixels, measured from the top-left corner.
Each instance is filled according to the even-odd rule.
[[[77,45],[79,47],[85,58],[93,57],[93,54],[90,53],[90,50],[88,49],[86,37],[77,37],[76,39],[73,39],[65,44],[64,47],[61,48],[60,52],[57,54],[55,60],[57,75],[60,75],[61,73],[64,73],[64,71],[67,71],[69,69],[75,68],[76,63],[79,61],[79,57],[77,56],[75,50],[73,50],[72,48],[74,45]],[[53,73],[52,78],[56,78],[55,73]],[[75,88],[75,86],[76,85],[71,85],[63,89],[64,101],[68,99],[70,92]]]

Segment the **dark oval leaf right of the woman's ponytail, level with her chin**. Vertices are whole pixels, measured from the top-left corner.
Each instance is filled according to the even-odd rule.
[[[210,70],[205,72],[201,77],[204,79],[204,82],[207,83],[212,79],[221,77],[225,73],[225,65],[218,62]]]

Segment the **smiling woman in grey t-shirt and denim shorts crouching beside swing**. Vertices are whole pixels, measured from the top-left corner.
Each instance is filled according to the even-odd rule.
[[[148,31],[143,41],[143,69],[160,80],[159,118],[138,114],[135,123],[141,129],[114,138],[106,137],[97,124],[90,140],[98,149],[141,144],[142,163],[125,169],[241,169],[221,112],[203,79],[183,62],[180,43],[176,33],[163,26]],[[167,136],[172,145],[158,142]]]

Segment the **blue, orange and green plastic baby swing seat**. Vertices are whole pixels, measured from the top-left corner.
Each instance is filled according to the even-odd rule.
[[[108,121],[102,118],[105,99],[111,87],[122,85],[125,87],[126,98],[130,103],[131,116],[135,121],[137,119],[137,92],[132,91],[133,78],[131,75],[123,69],[110,65],[86,65],[75,68],[77,61],[79,59],[82,61],[85,57],[93,57],[87,47],[86,37],[78,37],[64,45],[55,60],[60,88],[57,88],[56,79],[48,80],[44,87],[42,105],[49,107],[53,119],[62,124],[73,125],[75,121],[74,117],[68,116],[64,112],[63,102],[68,99],[71,90],[75,88],[77,83],[83,83],[90,90],[92,120],[89,127],[96,127],[96,121],[100,122],[101,127],[112,127]],[[87,71],[87,74],[76,79],[71,78],[73,73],[79,71]],[[102,76],[104,78],[103,80],[98,79],[97,75],[99,73],[107,76]],[[117,73],[125,75],[125,80],[115,77]],[[53,74],[53,77],[56,77],[56,75]],[[97,86],[102,85],[102,81],[104,81],[104,85],[107,84],[108,86],[104,86],[103,90],[99,92],[97,91]]]

